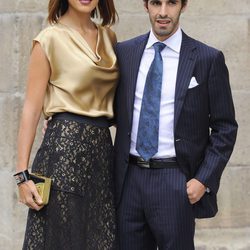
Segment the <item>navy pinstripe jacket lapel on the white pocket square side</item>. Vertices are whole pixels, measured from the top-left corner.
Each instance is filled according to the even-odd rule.
[[[174,128],[176,128],[185,95],[187,93],[190,80],[193,76],[193,70],[197,56],[193,40],[185,33],[182,33],[182,35],[182,45],[175,89]]]

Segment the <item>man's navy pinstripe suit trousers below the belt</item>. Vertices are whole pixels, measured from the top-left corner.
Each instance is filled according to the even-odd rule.
[[[129,166],[118,220],[120,250],[194,249],[194,215],[178,168]]]

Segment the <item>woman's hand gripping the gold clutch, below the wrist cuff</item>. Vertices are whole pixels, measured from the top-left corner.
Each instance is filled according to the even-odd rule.
[[[39,211],[44,207],[33,181],[29,180],[18,185],[19,201],[31,209]]]

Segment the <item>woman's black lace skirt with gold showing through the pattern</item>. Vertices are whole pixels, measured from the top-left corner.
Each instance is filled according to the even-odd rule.
[[[117,249],[108,123],[85,118],[64,113],[48,124],[32,171],[53,185],[49,204],[29,210],[23,249]]]

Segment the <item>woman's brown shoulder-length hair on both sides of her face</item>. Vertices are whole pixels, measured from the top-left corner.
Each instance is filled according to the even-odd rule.
[[[48,21],[49,23],[57,23],[58,18],[66,13],[69,4],[68,0],[50,0],[48,5]],[[91,17],[99,17],[102,19],[102,25],[113,25],[117,18],[117,12],[113,0],[99,0],[97,9],[91,13]]]

